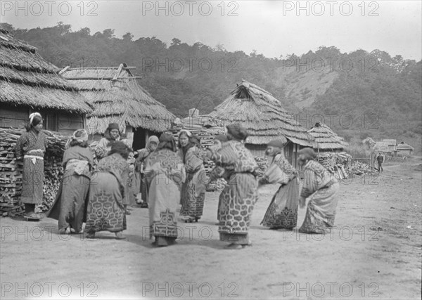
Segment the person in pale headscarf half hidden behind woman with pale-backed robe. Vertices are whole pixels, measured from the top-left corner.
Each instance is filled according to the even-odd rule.
[[[139,150],[139,156],[136,158],[135,162],[135,178],[136,178],[136,187],[135,191],[136,194],[141,191],[142,203],[141,207],[148,207],[148,185],[146,184],[145,178],[145,165],[146,159],[152,152],[157,149],[158,145],[158,137],[157,136],[150,136],[148,138],[148,144],[146,148]]]

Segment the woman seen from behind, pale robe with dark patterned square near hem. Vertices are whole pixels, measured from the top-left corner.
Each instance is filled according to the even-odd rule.
[[[150,234],[156,246],[174,244],[177,239],[176,209],[184,181],[183,162],[177,154],[170,133],[162,133],[157,150],[146,161],[145,176],[149,185]]]

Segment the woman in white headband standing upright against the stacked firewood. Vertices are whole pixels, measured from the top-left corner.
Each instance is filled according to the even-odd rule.
[[[15,145],[16,158],[23,159],[23,185],[20,200],[25,204],[25,216],[28,220],[39,220],[35,206],[42,204],[44,186],[44,154],[47,137],[41,131],[43,119],[38,112],[30,115],[25,126],[27,132],[18,138]]]

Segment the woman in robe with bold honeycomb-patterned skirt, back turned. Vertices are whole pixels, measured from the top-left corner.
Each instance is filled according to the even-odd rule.
[[[248,137],[241,124],[227,127],[227,146],[216,150],[208,148],[210,158],[229,171],[229,182],[220,195],[219,235],[220,240],[231,242],[229,249],[242,249],[250,245],[248,229],[252,211],[257,201],[257,162],[242,141]]]

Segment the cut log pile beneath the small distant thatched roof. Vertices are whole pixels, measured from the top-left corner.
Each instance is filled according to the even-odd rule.
[[[335,178],[345,179],[349,177],[352,156],[346,152],[326,152],[319,154],[318,161],[331,171]]]

